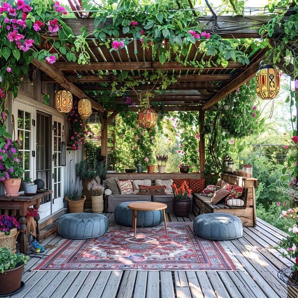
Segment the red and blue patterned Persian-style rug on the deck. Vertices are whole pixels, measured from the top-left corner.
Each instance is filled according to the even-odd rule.
[[[211,241],[193,233],[193,223],[138,227],[110,224],[102,237],[66,240],[34,270],[216,270],[241,269],[224,241]]]

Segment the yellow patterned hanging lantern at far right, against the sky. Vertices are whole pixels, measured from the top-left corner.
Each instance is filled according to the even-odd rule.
[[[260,63],[256,74],[256,91],[262,99],[273,99],[280,90],[280,77],[272,65]]]

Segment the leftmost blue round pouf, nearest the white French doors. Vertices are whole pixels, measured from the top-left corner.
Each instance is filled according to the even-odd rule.
[[[57,228],[59,235],[65,238],[97,238],[107,231],[109,221],[102,214],[69,213],[59,219]]]

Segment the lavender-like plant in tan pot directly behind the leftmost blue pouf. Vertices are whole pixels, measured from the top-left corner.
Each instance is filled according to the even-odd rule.
[[[65,198],[66,201],[68,201],[70,213],[84,212],[84,202],[86,197],[82,196],[82,190],[82,182],[79,177],[77,177],[73,189]]]

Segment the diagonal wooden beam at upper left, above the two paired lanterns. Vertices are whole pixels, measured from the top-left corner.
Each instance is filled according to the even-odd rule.
[[[31,62],[34,66],[38,67],[41,71],[43,71],[45,74],[48,74],[51,76],[57,83],[62,84],[66,83],[69,86],[69,91],[74,94],[74,96],[78,98],[88,98],[91,103],[92,107],[98,111],[104,111],[103,106],[89,98],[82,90],[80,90],[77,86],[75,86],[72,82],[68,81],[65,76],[59,71],[57,68],[55,68],[53,65],[39,61],[37,59],[34,59]]]

